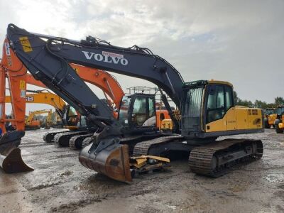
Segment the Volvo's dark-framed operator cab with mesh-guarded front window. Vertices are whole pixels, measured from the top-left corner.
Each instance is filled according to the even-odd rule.
[[[224,118],[228,109],[234,106],[233,89],[222,82],[188,83],[183,99],[182,132],[191,137],[204,137],[204,132],[211,128],[209,124]]]

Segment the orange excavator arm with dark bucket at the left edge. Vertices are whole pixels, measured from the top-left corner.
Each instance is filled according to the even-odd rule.
[[[25,135],[26,114],[26,67],[18,60],[15,53],[9,50],[8,40],[4,43],[0,64],[0,166],[6,173],[33,170],[21,158],[18,146]],[[6,118],[6,79],[11,94],[12,118]],[[6,123],[11,122],[16,131],[6,131]]]

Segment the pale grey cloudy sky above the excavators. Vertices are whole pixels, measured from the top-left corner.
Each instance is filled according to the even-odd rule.
[[[0,0],[1,40],[8,23],[77,40],[93,35],[113,45],[150,48],[174,65],[185,81],[226,80],[239,97],[252,101],[273,102],[284,96],[283,0],[9,2]],[[123,88],[152,86],[115,76]]]

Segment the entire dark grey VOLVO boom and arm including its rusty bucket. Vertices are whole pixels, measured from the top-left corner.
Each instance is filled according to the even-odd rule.
[[[7,29],[7,37],[35,80],[43,82],[99,127],[93,143],[80,153],[82,165],[115,180],[131,181],[128,148],[119,143],[119,137],[124,134],[121,124],[69,63],[148,80],[163,89],[177,106],[184,84],[180,73],[163,58],[137,46],[119,48],[94,38],[79,42],[38,35],[13,24]],[[171,111],[169,104],[165,106]]]

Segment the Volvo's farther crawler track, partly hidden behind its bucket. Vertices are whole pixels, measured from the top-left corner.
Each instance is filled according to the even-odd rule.
[[[148,141],[137,143],[133,149],[133,156],[148,155],[152,146],[158,146],[161,143],[169,143],[172,141],[180,141],[184,139],[182,136],[162,136]]]

